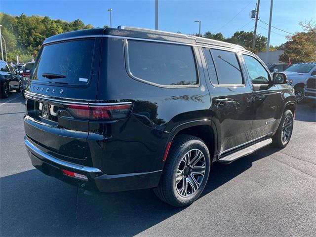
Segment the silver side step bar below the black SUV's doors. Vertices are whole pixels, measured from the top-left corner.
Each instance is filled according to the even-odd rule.
[[[244,156],[247,156],[247,155],[249,155],[249,154],[251,154],[251,153],[259,150],[260,148],[263,148],[263,147],[265,147],[265,146],[267,146],[267,145],[269,145],[271,143],[272,143],[272,139],[271,138],[263,140],[261,142],[253,144],[253,145],[251,145],[249,147],[246,147],[246,148],[244,148],[242,150],[239,150],[237,152],[231,153],[229,155],[224,155],[223,157],[220,157],[218,159],[218,162],[226,163],[226,164],[231,163],[234,160],[236,160],[238,158],[241,158],[241,157],[244,157]]]

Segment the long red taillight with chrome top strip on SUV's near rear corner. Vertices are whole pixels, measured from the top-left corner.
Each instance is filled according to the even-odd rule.
[[[116,120],[126,118],[132,109],[132,105],[68,105],[68,108],[77,118],[91,120]]]

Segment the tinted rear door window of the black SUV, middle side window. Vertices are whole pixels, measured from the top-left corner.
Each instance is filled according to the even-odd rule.
[[[242,84],[241,70],[234,52],[211,49],[219,84]]]

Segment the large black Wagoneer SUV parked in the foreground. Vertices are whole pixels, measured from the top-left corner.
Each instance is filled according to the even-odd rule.
[[[154,188],[175,206],[199,197],[212,162],[285,147],[296,108],[286,76],[243,47],[130,27],[46,39],[25,97],[40,171],[92,191]]]

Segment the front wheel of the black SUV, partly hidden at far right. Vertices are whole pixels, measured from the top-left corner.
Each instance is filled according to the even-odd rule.
[[[288,125],[286,125],[289,123],[287,123],[287,122],[284,123],[284,121],[288,118],[290,119],[289,122],[291,123],[290,127]],[[290,110],[286,110],[283,113],[280,124],[278,125],[278,128],[276,130],[276,134],[273,136],[273,143],[274,143],[275,147],[284,148],[287,146],[287,144],[291,140],[292,131],[293,131],[293,123],[294,123],[294,118],[293,118],[292,112]],[[287,129],[285,129],[286,127],[287,127]],[[283,136],[285,136],[284,130],[289,133],[288,138],[286,138],[285,140],[283,137]]]

